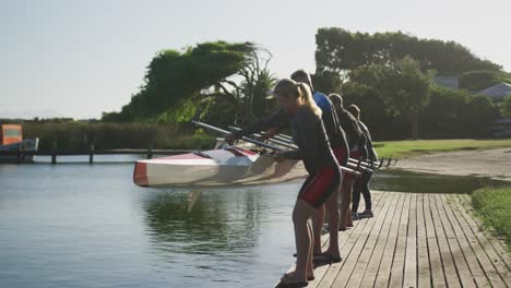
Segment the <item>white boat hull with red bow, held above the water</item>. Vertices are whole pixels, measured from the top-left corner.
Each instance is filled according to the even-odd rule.
[[[306,176],[301,161],[276,163],[272,157],[231,146],[138,160],[133,181],[140,187],[202,188],[278,183]]]

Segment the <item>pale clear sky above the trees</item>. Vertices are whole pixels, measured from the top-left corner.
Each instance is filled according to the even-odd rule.
[[[0,0],[0,118],[119,111],[164,49],[253,41],[314,72],[320,27],[454,40],[511,71],[509,0]]]

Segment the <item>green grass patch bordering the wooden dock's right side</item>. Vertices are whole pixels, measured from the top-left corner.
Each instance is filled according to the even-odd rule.
[[[472,205],[484,225],[504,238],[511,252],[511,187],[478,189],[472,194]]]

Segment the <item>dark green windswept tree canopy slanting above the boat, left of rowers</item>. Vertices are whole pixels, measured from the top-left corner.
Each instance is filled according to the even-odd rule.
[[[165,119],[165,113],[174,116],[179,111],[171,109],[180,109],[201,89],[241,71],[254,50],[251,43],[215,41],[189,47],[183,52],[161,51],[147,67],[144,84],[131,101],[119,113],[104,113],[104,120],[174,121]]]

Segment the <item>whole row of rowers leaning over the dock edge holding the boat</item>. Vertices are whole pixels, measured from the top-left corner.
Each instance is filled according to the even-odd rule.
[[[370,171],[361,177],[342,173],[348,157],[377,160],[371,137],[366,125],[359,121],[359,109],[343,108],[337,94],[326,96],[313,89],[310,75],[304,70],[292,74],[292,80],[281,80],[274,87],[280,109],[227,136],[227,140],[265,131],[271,137],[284,128],[289,128],[298,146],[286,151],[275,159],[301,159],[309,173],[304,182],[293,211],[297,249],[296,269],[285,274],[281,287],[305,287],[314,278],[316,261],[340,262],[338,230],[353,227],[353,219],[361,215],[371,217],[371,200],[368,189]],[[353,214],[350,209],[354,195]],[[360,193],[364,194],[366,211],[357,214]],[[337,197],[341,196],[341,212]],[[321,229],[328,217],[330,231],[329,248],[321,251]],[[309,219],[312,219],[310,225]]]

